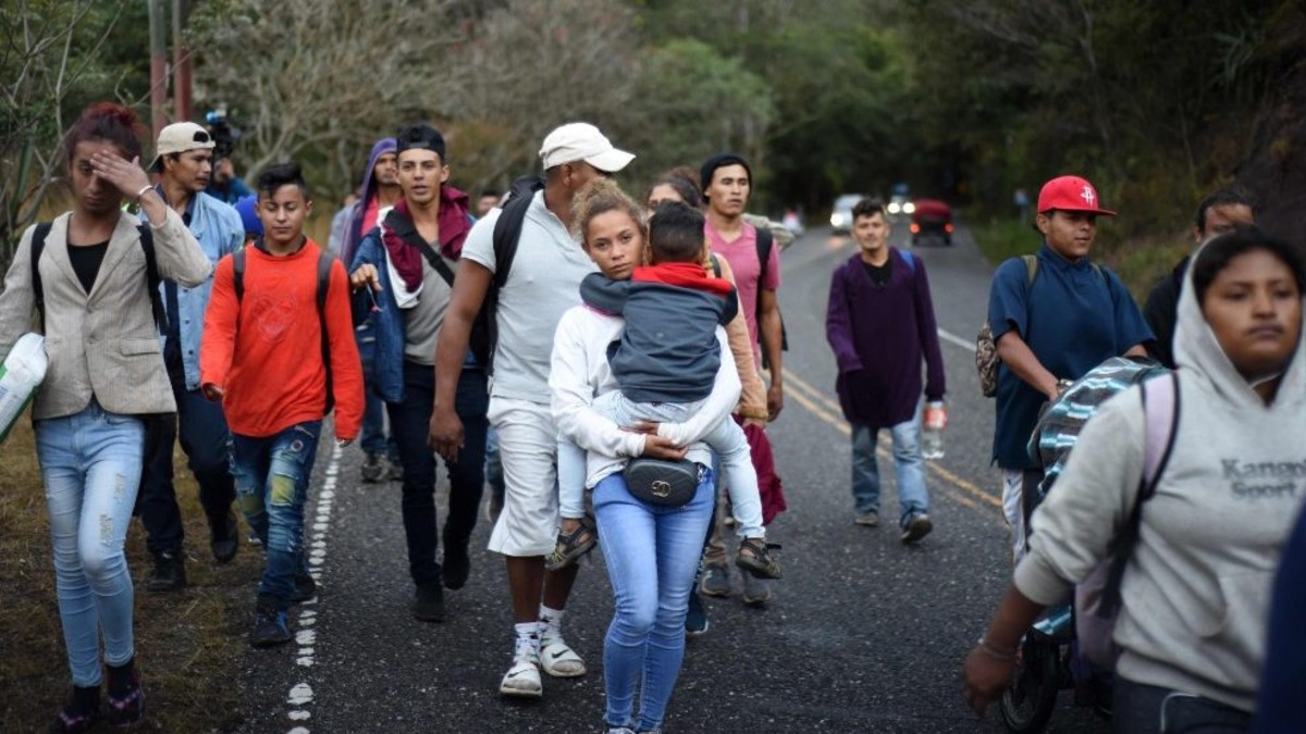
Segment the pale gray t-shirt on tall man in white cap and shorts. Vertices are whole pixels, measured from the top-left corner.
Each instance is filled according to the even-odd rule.
[[[502,209],[478,221],[462,257],[495,272],[494,226]],[[521,225],[508,282],[499,293],[499,345],[490,394],[549,405],[549,359],[558,320],[580,304],[580,282],[598,268],[535,192]]]

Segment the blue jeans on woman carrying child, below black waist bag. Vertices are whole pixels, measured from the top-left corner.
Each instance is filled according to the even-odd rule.
[[[684,660],[684,615],[699,568],[703,537],[712,524],[716,487],[704,471],[684,507],[640,502],[623,474],[594,487],[598,542],[607,562],[615,614],[603,640],[609,726],[632,726],[640,684],[640,731],[657,729]]]

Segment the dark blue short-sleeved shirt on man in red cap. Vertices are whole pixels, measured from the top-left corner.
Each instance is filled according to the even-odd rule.
[[[1088,257],[1071,263],[1046,244],[1038,249],[1033,285],[1025,263],[1012,257],[994,273],[989,289],[989,325],[996,341],[1015,330],[1042,366],[1058,379],[1077,380],[1130,347],[1151,341],[1124,283]],[[1047,398],[1006,364],[998,368],[998,419],[993,458],[1003,469],[1033,469],[1025,448]]]

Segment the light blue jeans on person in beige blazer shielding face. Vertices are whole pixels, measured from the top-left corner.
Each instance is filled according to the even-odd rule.
[[[145,424],[93,398],[81,413],[37,422],[37,456],[50,508],[59,620],[74,686],[98,686],[104,661],[136,654],[135,593],[123,543],[141,482]]]

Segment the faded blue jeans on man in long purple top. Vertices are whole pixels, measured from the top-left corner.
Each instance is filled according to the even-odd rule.
[[[853,426],[853,499],[857,512],[880,511],[880,470],[875,458],[879,428]],[[930,511],[930,494],[925,488],[925,460],[921,457],[921,410],[910,421],[889,428],[893,441],[893,473],[897,478],[899,524],[906,525],[913,515]]]

